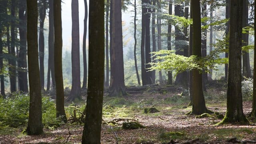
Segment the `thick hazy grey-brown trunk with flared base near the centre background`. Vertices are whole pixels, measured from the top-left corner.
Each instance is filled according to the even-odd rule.
[[[110,47],[110,87],[109,96],[126,95],[124,85],[124,56],[122,40],[121,0],[112,0],[112,37]],[[110,42],[110,43],[111,43]]]

